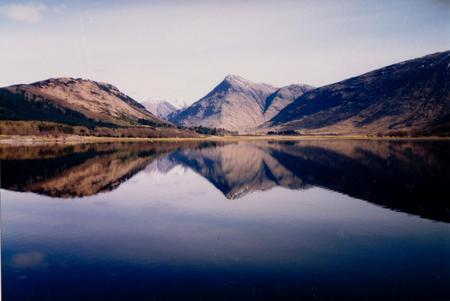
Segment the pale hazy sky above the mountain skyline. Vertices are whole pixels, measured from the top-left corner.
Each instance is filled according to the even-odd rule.
[[[227,74],[333,83],[450,49],[450,1],[0,0],[0,86],[71,76],[191,103]]]

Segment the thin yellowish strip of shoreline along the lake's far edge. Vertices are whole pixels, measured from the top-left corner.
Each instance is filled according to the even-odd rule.
[[[302,141],[302,140],[380,140],[380,141],[436,141],[450,140],[450,137],[422,136],[400,137],[385,136],[373,137],[366,135],[305,135],[305,136],[279,136],[279,135],[243,135],[243,136],[203,136],[203,137],[167,137],[167,138],[139,138],[139,137],[97,137],[97,136],[2,136],[0,145],[35,145],[35,144],[84,144],[108,142],[180,142],[180,141]]]

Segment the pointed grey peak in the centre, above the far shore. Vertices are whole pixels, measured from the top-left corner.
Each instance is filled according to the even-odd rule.
[[[302,91],[310,89],[309,86],[289,87],[278,89],[237,75],[228,75],[208,95],[171,116],[170,121],[184,126],[251,132]]]

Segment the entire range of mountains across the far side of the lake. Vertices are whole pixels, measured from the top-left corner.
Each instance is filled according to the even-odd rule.
[[[446,51],[319,88],[229,75],[182,109],[167,101],[140,104],[106,83],[54,78],[0,88],[0,134],[192,136],[177,124],[241,134],[449,136],[449,71]]]

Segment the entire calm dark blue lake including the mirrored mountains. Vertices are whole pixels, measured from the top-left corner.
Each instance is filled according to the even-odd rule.
[[[0,147],[3,300],[450,300],[450,143]]]

